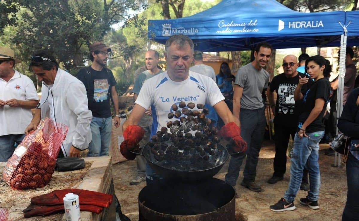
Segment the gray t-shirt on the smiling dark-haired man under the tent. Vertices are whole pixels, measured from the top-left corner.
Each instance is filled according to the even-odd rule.
[[[265,69],[258,71],[252,63],[239,68],[236,75],[236,85],[243,87],[241,108],[255,110],[264,106],[262,91],[268,87],[269,73]]]

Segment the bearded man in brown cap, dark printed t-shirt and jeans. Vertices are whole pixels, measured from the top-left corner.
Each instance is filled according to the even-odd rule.
[[[115,127],[120,126],[118,114],[118,96],[116,81],[112,71],[106,68],[108,53],[111,48],[102,42],[90,45],[91,66],[83,68],[77,78],[86,87],[88,108],[92,112],[91,133],[92,141],[89,144],[88,157],[107,156],[111,141],[112,116],[110,99],[115,111]]]

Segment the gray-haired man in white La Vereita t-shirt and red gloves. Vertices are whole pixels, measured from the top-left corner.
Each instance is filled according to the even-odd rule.
[[[224,97],[211,78],[189,71],[193,59],[194,44],[187,35],[179,34],[170,37],[165,45],[165,59],[168,70],[148,79],[141,88],[129,119],[123,124],[121,153],[133,160],[136,146],[143,138],[144,131],[137,126],[145,111],[151,107],[153,124],[151,135],[166,126],[172,105],[181,101],[195,104],[209,104],[226,123],[221,135],[232,138],[236,143],[234,152],[245,151],[247,144],[240,136],[239,120],[234,117],[224,102]],[[196,110],[196,107],[194,108]],[[184,115],[186,116],[186,115]],[[149,165],[146,165],[147,184],[154,182],[155,176]]]

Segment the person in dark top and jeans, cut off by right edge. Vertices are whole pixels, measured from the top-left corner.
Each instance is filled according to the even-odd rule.
[[[352,140],[359,139],[359,88],[355,88],[347,97],[341,113],[338,129]],[[359,144],[356,145],[359,150]],[[348,193],[342,215],[342,221],[359,220],[359,151],[349,150],[346,162],[346,181]]]

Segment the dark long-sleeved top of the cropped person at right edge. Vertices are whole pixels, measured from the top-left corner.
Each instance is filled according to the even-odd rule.
[[[343,112],[338,121],[338,129],[345,135],[359,138],[359,114],[356,99],[359,96],[359,88],[355,88],[348,95]]]

